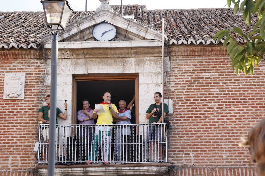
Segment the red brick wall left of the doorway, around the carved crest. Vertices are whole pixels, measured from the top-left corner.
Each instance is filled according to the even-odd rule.
[[[37,165],[33,151],[38,141],[37,115],[49,92],[49,87],[44,86],[47,60],[41,57],[41,50],[0,50],[0,171]],[[25,72],[24,99],[3,99],[4,74],[10,72]],[[16,172],[27,175],[29,171]]]

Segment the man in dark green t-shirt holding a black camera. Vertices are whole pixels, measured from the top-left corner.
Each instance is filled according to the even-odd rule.
[[[158,123],[162,123],[162,107],[161,107],[162,95],[160,92],[155,92],[154,100],[155,104],[151,104],[146,111],[146,119],[149,119],[149,123],[152,125],[148,126],[147,131],[147,141],[150,142],[150,161],[153,161],[153,153],[155,154],[156,145],[158,151],[158,158],[161,160],[161,146],[158,145],[158,142],[161,141],[161,126]],[[168,113],[168,105],[164,103],[164,117]],[[155,144],[154,144],[155,142]],[[154,149],[154,150],[153,150]]]

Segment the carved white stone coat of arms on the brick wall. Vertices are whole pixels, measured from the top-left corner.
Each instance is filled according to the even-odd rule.
[[[25,73],[5,73],[4,99],[24,99]]]

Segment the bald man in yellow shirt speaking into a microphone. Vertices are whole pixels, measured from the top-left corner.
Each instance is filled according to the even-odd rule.
[[[99,145],[101,145],[101,160],[104,161],[105,164],[108,164],[109,151],[110,151],[110,139],[112,134],[112,120],[114,116],[116,119],[118,118],[118,110],[115,104],[110,102],[110,93],[106,92],[103,95],[103,101],[100,103],[105,110],[104,113],[98,113],[98,110],[95,109],[93,112],[93,119],[97,118],[97,125],[95,128],[95,136],[93,140],[92,150],[90,152],[87,164],[95,163],[95,158],[97,157]]]

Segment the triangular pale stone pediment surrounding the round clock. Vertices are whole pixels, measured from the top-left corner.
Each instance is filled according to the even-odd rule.
[[[159,42],[162,40],[161,33],[144,27],[143,25],[134,21],[128,20],[120,15],[117,15],[116,13],[102,10],[94,13],[93,16],[86,16],[79,21],[69,24],[65,31],[58,36],[58,41],[63,43],[80,43],[84,41],[99,42],[95,41],[93,38],[92,30],[95,25],[103,22],[103,20],[105,22],[112,23],[117,28],[117,38],[115,41],[155,40]],[[50,43],[52,41],[52,34],[43,37],[42,41],[44,42],[44,48],[49,48],[47,45],[45,47],[45,42]]]

